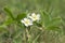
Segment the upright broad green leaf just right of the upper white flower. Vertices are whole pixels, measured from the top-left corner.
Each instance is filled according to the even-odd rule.
[[[43,11],[41,13],[42,25],[44,25],[47,27],[50,20],[51,20],[51,16],[46,11]]]

